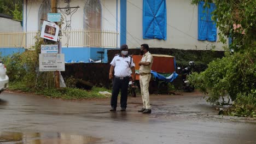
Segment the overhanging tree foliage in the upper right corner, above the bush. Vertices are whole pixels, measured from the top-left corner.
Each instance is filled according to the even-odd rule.
[[[192,0],[198,4],[201,0]],[[205,0],[205,7],[209,7],[212,0]],[[217,22],[220,41],[226,43],[226,38],[232,38],[229,49],[235,52],[245,52],[255,49],[256,38],[256,0],[216,0],[216,10],[212,20]],[[236,27],[236,28],[235,28]]]

